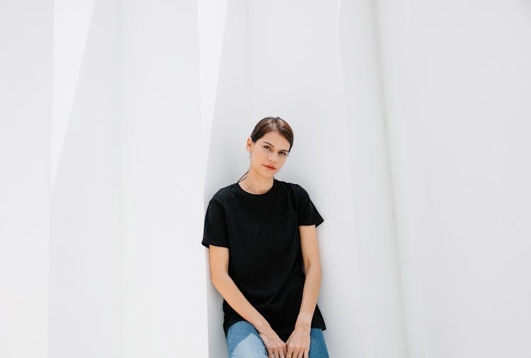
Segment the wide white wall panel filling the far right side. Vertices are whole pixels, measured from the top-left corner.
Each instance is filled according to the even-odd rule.
[[[531,7],[378,4],[409,357],[530,357]]]

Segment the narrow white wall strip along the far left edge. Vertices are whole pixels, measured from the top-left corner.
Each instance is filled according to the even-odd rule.
[[[0,2],[0,357],[47,357],[52,1]]]

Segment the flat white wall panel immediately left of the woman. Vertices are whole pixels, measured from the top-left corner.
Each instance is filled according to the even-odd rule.
[[[124,357],[207,357],[195,1],[122,1]]]

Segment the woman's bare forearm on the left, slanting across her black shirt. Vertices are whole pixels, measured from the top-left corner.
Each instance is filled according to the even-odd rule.
[[[212,284],[234,311],[251,323],[259,333],[270,329],[268,321],[247,301],[229,274],[219,274],[215,279],[212,279]]]

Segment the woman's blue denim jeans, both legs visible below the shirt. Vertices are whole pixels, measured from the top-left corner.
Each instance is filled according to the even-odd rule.
[[[268,351],[256,328],[246,320],[240,320],[227,331],[227,352],[229,358],[267,358]],[[276,358],[276,357],[275,357]],[[329,358],[324,342],[323,331],[310,330],[309,358]]]

